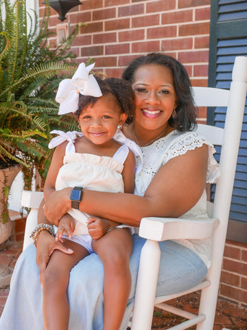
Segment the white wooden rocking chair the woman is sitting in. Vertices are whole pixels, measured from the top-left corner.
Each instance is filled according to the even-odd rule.
[[[222,145],[220,157],[221,175],[217,180],[214,203],[208,203],[211,219],[189,220],[175,218],[143,218],[139,235],[147,239],[141,251],[137,290],[132,315],[132,330],[150,330],[154,305],[188,320],[169,328],[170,330],[188,329],[197,325],[197,330],[213,330],[217,292],[226,240],[228,215],[237,164],[240,134],[244,115],[247,90],[247,57],[235,58],[233,82],[230,91],[207,87],[193,87],[198,107],[227,107],[224,129],[198,125],[200,131],[215,145]],[[30,233],[37,222],[38,206],[43,192],[23,191],[22,206],[32,208],[25,228],[23,250],[32,242]],[[213,256],[207,278],[186,292],[156,297],[156,283],[160,261],[158,241],[167,239],[204,239],[213,236]],[[201,290],[198,315],[169,306],[164,302]]]

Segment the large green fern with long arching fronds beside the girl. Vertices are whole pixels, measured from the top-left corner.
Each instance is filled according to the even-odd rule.
[[[73,130],[75,120],[58,119],[55,91],[62,78],[75,72],[69,48],[78,33],[75,28],[62,45],[48,45],[49,4],[40,24],[31,19],[25,0],[0,0],[0,233],[8,219],[8,192],[12,175],[23,170],[30,188],[34,168],[44,179],[49,166],[47,148],[52,129]],[[58,122],[59,120],[59,122]],[[16,168],[17,166],[17,168]],[[9,180],[9,178],[11,180]],[[7,228],[7,227],[6,227]],[[5,240],[1,239],[0,243]]]

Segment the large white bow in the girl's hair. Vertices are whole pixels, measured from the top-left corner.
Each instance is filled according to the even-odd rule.
[[[97,80],[93,74],[89,75],[94,65],[95,63],[86,67],[85,63],[81,63],[72,79],[64,79],[60,82],[55,98],[56,102],[60,103],[58,115],[78,110],[79,93],[96,98],[102,96]]]

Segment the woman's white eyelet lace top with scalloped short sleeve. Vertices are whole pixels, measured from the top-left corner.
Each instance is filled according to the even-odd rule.
[[[165,137],[155,141],[150,146],[141,147],[143,153],[143,167],[136,175],[135,194],[143,196],[152,178],[158,170],[166,164],[169,159],[178,155],[184,155],[187,151],[194,150],[207,144],[209,146],[209,161],[207,170],[207,182],[213,183],[220,175],[220,167],[213,157],[215,148],[202,135],[197,132],[180,133],[172,131]],[[137,157],[137,164],[139,159]],[[202,197],[191,210],[183,214],[181,218],[204,218],[207,216],[207,195],[203,192]],[[178,240],[178,243],[187,246],[200,256],[202,261],[210,266],[211,259],[211,239],[206,240]]]

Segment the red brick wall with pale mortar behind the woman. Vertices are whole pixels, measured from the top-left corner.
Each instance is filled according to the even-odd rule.
[[[40,14],[44,8],[42,1]],[[132,58],[148,52],[165,52],[185,65],[193,86],[207,86],[210,0],[82,2],[67,13],[65,21],[70,29],[76,23],[86,23],[72,45],[78,62],[93,57],[97,69],[119,77]],[[60,23],[58,14],[51,10],[50,29],[56,31]],[[56,42],[56,37],[51,42]],[[205,122],[206,117],[206,109],[200,109],[198,121]],[[235,258],[236,251],[239,257]],[[247,245],[226,243],[220,285],[221,296],[245,305],[246,254]]]

